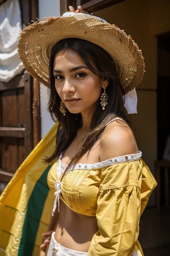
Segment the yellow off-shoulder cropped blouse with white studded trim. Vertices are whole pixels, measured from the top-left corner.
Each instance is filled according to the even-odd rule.
[[[48,185],[73,211],[96,216],[99,230],[88,256],[132,256],[134,249],[143,255],[137,241],[139,221],[157,183],[141,152],[70,167],[58,189],[57,173],[65,167],[59,158],[48,173]]]

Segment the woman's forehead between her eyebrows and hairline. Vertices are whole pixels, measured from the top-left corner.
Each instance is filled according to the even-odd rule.
[[[66,65],[82,65],[85,64],[80,55],[73,49],[59,51],[54,57],[54,67]]]

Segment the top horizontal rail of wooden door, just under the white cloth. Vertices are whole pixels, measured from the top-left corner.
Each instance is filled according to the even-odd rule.
[[[24,87],[24,77],[21,75],[15,76],[7,83],[0,81],[0,91],[17,89],[21,87]]]

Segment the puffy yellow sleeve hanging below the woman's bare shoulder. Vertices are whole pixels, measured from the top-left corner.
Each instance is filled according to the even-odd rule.
[[[88,256],[132,256],[140,221],[142,161],[117,163],[102,170],[94,235]]]

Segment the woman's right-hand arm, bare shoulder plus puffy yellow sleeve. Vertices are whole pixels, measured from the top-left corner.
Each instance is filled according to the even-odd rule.
[[[88,256],[132,256],[139,232],[138,176],[142,162],[130,157],[137,152],[134,136],[128,128],[111,127],[101,138],[101,161],[123,155],[124,161],[102,169],[96,213],[99,231],[91,241]]]

